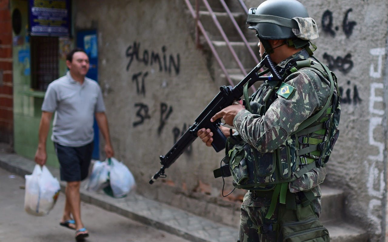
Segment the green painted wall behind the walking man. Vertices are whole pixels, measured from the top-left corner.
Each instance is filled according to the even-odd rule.
[[[28,36],[28,2],[25,0],[11,0],[11,13],[19,9],[22,14],[22,30],[19,35],[13,33],[12,46],[13,58],[13,84],[14,84],[14,150],[17,154],[34,159],[38,146],[38,130],[44,92],[31,89],[29,56],[30,44]],[[61,39],[59,43],[68,43],[70,39]],[[60,49],[61,49],[60,44]],[[60,55],[60,53],[58,53]],[[66,74],[66,60],[60,57],[59,76]],[[53,80],[54,81],[54,80]],[[51,130],[51,129],[50,129]],[[51,131],[47,137],[47,165],[58,167],[54,146],[50,139]]]

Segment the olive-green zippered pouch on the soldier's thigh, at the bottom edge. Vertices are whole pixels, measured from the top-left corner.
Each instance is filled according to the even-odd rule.
[[[312,205],[296,205],[296,211],[281,208],[280,230],[283,242],[329,242],[329,232],[312,209]]]

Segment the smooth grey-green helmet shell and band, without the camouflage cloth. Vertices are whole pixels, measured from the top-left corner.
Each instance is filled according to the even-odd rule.
[[[298,29],[294,17],[308,18],[302,3],[296,0],[267,0],[248,12],[249,29],[255,29],[260,39],[288,39],[296,37],[293,28]]]

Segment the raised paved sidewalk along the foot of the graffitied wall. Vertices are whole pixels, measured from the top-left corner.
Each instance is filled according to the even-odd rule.
[[[14,153],[0,151],[0,167],[17,175],[31,174],[35,162]],[[48,167],[54,177],[59,177],[59,169]],[[86,182],[86,181],[85,181]],[[81,184],[81,200],[108,211],[118,213],[141,223],[165,230],[193,242],[233,242],[238,230],[211,220],[187,213],[163,203],[152,201],[135,193],[124,198],[113,198],[103,193],[86,191]],[[64,191],[65,182],[61,183]]]

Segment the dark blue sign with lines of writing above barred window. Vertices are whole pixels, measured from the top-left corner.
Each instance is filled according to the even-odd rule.
[[[70,35],[70,0],[29,0],[28,11],[31,35]]]

